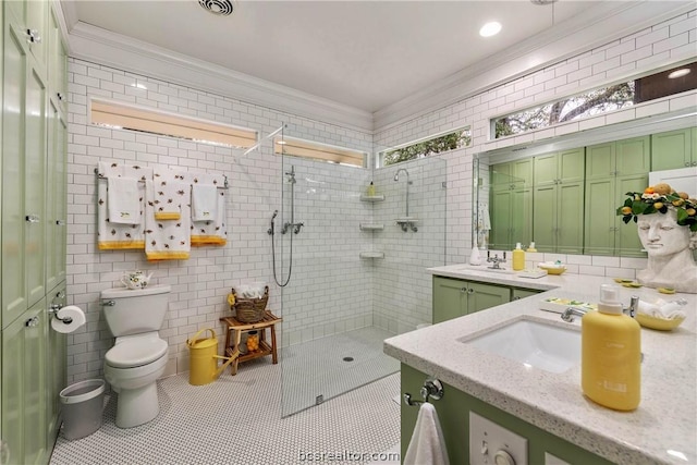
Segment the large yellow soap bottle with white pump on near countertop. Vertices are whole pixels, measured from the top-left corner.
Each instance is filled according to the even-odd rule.
[[[633,411],[641,399],[641,331],[622,313],[617,294],[601,285],[598,311],[580,320],[580,386],[600,405]]]

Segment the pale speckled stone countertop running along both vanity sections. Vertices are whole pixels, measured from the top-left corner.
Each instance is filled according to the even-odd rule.
[[[688,316],[673,331],[641,328],[641,402],[634,412],[602,407],[583,395],[580,366],[562,374],[526,368],[461,342],[515,319],[540,320],[580,331],[559,314],[539,309],[554,296],[597,303],[611,278],[584,274],[540,279],[473,270],[431,268],[432,274],[546,291],[384,341],[384,353],[420,371],[617,464],[697,464],[697,295],[620,287],[622,302],[685,298]],[[433,341],[439,341],[433,344]]]

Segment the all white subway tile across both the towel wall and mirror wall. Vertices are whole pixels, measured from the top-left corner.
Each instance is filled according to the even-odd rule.
[[[277,219],[277,231],[282,221],[290,221],[289,185],[281,183],[290,159],[282,166],[281,158],[271,155],[270,142],[242,157],[242,150],[95,127],[88,124],[90,96],[250,127],[261,135],[290,121],[289,135],[367,152],[374,146],[390,147],[470,124],[472,147],[405,164],[411,173],[413,170],[413,216],[423,217],[417,233],[403,233],[391,223],[393,215],[400,215],[403,207],[400,200],[404,189],[402,181],[392,180],[393,168],[376,172],[378,191],[388,194],[384,204],[377,206],[358,199],[370,181],[369,170],[299,159],[291,162],[297,179],[295,221],[304,222],[305,227],[293,236],[292,284],[283,291],[271,285],[270,308],[280,308],[283,292],[282,344],[371,325],[402,332],[430,320],[430,277],[423,268],[462,262],[468,257],[473,156],[529,139],[525,135],[489,142],[489,119],[644,73],[667,61],[694,58],[695,16],[695,11],[683,14],[376,134],[70,59],[68,292],[71,303],[86,310],[87,325],[69,338],[69,382],[101,375],[103,354],[112,338],[101,317],[99,292],[119,285],[121,273],[136,268],[154,271],[156,282],[173,287],[161,331],[170,345],[167,374],[185,371],[186,339],[200,328],[221,330],[218,318],[229,311],[225,295],[230,287],[247,281],[272,283],[270,236],[266,233],[271,212],[283,210],[282,220]],[[671,110],[685,108],[694,106],[694,95],[665,101]],[[639,114],[664,110],[665,105],[660,102]],[[607,124],[617,118],[637,117],[633,109],[592,123],[540,130],[533,137],[537,140]],[[159,264],[148,264],[142,252],[97,250],[93,170],[100,160],[224,173],[231,184],[229,245],[195,249],[187,261]],[[447,179],[442,179],[442,171]],[[447,181],[447,189],[442,189],[441,181]],[[370,233],[358,229],[358,223],[378,217],[386,222],[384,231]],[[441,227],[442,231],[438,229]],[[277,236],[277,273],[286,278],[290,236]],[[386,259],[360,260],[357,256],[364,249],[381,249]],[[540,255],[546,260],[550,258]],[[572,265],[570,272],[578,273],[634,276],[627,267],[644,268],[641,259],[615,264],[606,257],[559,258]],[[219,339],[223,339],[222,334]]]

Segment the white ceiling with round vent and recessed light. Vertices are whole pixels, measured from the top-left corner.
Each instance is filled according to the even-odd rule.
[[[601,1],[259,1],[230,16],[197,0],[62,0],[78,23],[367,112],[476,69],[564,21],[592,17]],[[488,21],[503,24],[481,38]],[[484,69],[484,64],[482,69]]]

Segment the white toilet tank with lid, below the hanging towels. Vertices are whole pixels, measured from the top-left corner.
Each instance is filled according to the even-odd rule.
[[[169,285],[101,291],[101,308],[111,334],[119,338],[159,331],[164,321],[171,291]]]

